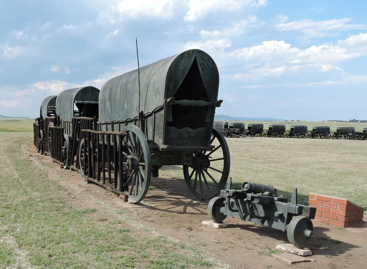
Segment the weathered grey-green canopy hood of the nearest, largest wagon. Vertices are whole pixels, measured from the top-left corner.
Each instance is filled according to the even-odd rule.
[[[189,70],[190,73],[200,73],[206,101],[217,101],[217,65],[204,51],[187,50],[140,68],[140,110],[144,115],[163,107],[164,99],[174,97]],[[192,100],[195,100],[194,96]],[[127,121],[138,114],[138,69],[106,81],[99,94],[99,122]]]

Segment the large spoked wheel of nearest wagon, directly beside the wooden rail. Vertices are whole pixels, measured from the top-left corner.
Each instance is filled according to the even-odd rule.
[[[126,125],[123,129],[123,164],[127,166],[127,181],[123,182],[123,191],[128,202],[137,203],[144,199],[149,190],[152,162],[148,142],[143,132],[135,125]]]

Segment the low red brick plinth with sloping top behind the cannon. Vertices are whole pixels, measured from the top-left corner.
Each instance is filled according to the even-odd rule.
[[[316,207],[315,220],[330,224],[349,227],[363,223],[363,207],[347,199],[322,195],[309,194],[309,206]]]

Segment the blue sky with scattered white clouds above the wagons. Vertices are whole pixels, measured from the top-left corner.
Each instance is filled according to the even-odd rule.
[[[188,49],[219,70],[217,114],[367,119],[367,1],[0,0],[0,114]]]

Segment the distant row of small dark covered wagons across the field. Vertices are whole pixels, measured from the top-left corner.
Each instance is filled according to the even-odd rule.
[[[290,130],[286,130],[284,124],[270,124],[268,130],[264,130],[262,123],[214,121],[214,128],[223,134],[224,137],[244,137],[244,136],[266,136],[266,137],[296,137],[296,138],[333,138],[333,139],[358,139],[365,140],[367,128],[362,132],[356,132],[355,127],[337,127],[336,132],[330,132],[330,126],[313,126],[312,131],[307,125],[292,125]]]

